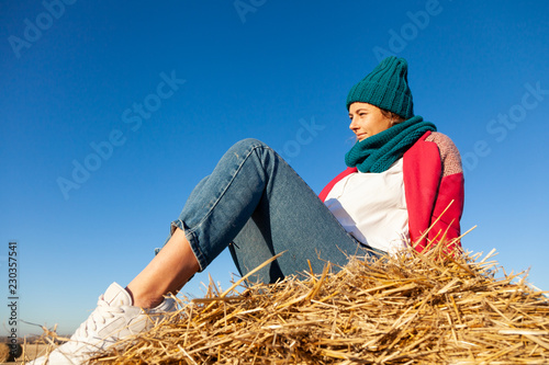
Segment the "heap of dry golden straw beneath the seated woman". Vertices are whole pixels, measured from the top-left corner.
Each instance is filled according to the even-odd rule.
[[[549,305],[493,251],[351,259],[206,298],[93,364],[548,364]],[[238,283],[235,283],[238,285]]]

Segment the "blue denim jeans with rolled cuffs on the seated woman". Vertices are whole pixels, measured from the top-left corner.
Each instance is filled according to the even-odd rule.
[[[270,147],[244,139],[222,157],[192,191],[178,220],[203,271],[227,246],[245,275],[273,283],[284,275],[322,273],[325,261],[344,265],[348,255],[369,254],[305,182]],[[371,254],[371,253],[370,253]]]

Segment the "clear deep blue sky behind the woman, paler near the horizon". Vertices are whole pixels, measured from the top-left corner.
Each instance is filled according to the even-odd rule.
[[[19,319],[72,332],[242,138],[320,192],[351,147],[347,92],[388,54],[408,60],[415,113],[462,153],[462,228],[478,226],[464,248],[495,248],[549,289],[548,13],[531,0],[2,1],[2,300],[16,240]],[[232,272],[226,253],[208,270],[225,288]],[[208,273],[183,292],[200,296]]]

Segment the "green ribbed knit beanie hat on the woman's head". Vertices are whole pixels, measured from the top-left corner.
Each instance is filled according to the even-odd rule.
[[[405,119],[414,116],[414,101],[408,88],[408,64],[404,58],[386,57],[373,71],[354,85],[347,95],[347,110],[355,102],[376,105]]]

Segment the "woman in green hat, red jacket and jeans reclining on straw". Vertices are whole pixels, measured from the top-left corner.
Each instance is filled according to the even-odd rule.
[[[126,288],[113,283],[49,362],[80,364],[90,352],[150,328],[150,315],[175,309],[164,296],[227,246],[242,275],[288,251],[251,277],[273,283],[309,270],[307,261],[320,273],[324,260],[344,265],[357,253],[394,252],[412,242],[422,251],[427,242],[459,237],[459,152],[434,124],[414,116],[406,61],[385,58],[351,88],[347,109],[358,140],[345,156],[349,168],[321,198],[268,146],[237,142],[194,187],[154,260]]]

